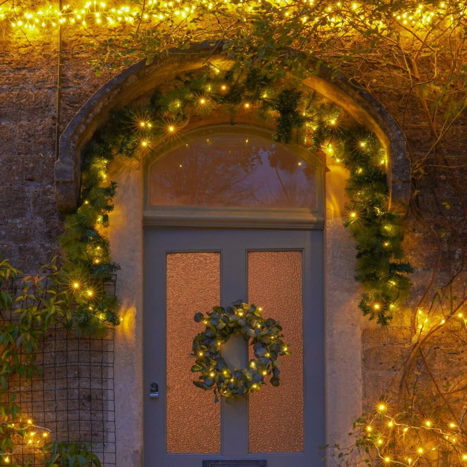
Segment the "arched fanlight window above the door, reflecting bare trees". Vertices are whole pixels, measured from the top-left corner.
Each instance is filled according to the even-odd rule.
[[[199,138],[149,169],[159,206],[316,208],[316,172],[283,146],[257,136]]]

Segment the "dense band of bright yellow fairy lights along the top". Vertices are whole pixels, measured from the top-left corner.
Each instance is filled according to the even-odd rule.
[[[349,23],[362,24],[384,32],[395,23],[413,29],[429,28],[439,23],[456,27],[466,16],[463,1],[399,2],[391,11],[384,5],[355,1],[315,0],[148,0],[140,3],[104,1],[72,1],[60,9],[58,2],[44,3],[43,6],[28,9],[16,6],[13,1],[0,6],[0,23],[10,30],[22,29],[27,33],[49,31],[59,25],[68,29],[91,28],[96,33],[115,30],[122,26],[151,28],[163,23],[189,22],[200,11],[212,14],[235,10],[246,18],[261,9],[276,8],[284,21],[297,18],[303,27],[319,24],[322,28],[336,30]],[[34,36],[34,34],[32,34]],[[39,36],[38,36],[39,37]]]

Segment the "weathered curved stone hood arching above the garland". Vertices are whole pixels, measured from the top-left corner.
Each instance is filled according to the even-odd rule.
[[[55,163],[55,189],[58,210],[71,212],[79,195],[80,154],[94,132],[112,112],[125,107],[144,93],[170,82],[177,74],[199,69],[210,51],[200,44],[196,50],[175,51],[161,63],[146,65],[142,60],[119,73],[96,91],[74,115],[60,137],[60,156]],[[187,55],[190,57],[187,59]],[[228,60],[210,58],[220,69]],[[224,63],[224,66],[223,66]],[[410,196],[410,163],[406,154],[406,139],[391,114],[370,93],[354,86],[341,73],[321,67],[320,72],[305,79],[305,84],[339,105],[360,124],[375,132],[387,148],[388,183],[393,210],[404,213]]]

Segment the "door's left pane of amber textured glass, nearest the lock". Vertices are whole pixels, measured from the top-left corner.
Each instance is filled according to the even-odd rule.
[[[219,302],[220,253],[167,254],[167,452],[220,452],[220,404],[194,386],[189,357],[193,316]]]

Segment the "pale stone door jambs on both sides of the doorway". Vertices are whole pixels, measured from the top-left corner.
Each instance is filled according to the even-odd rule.
[[[346,445],[349,427],[363,410],[361,333],[372,331],[366,331],[361,320],[359,290],[353,279],[355,245],[342,226],[348,174],[330,157],[326,166],[330,169],[324,173],[326,218],[324,222],[321,213],[317,226],[324,228],[325,241],[326,444]],[[115,332],[114,360],[116,459],[118,467],[142,467],[144,163],[125,171],[111,165],[108,177],[119,186],[108,236],[112,259],[122,268],[117,282],[121,324]]]

